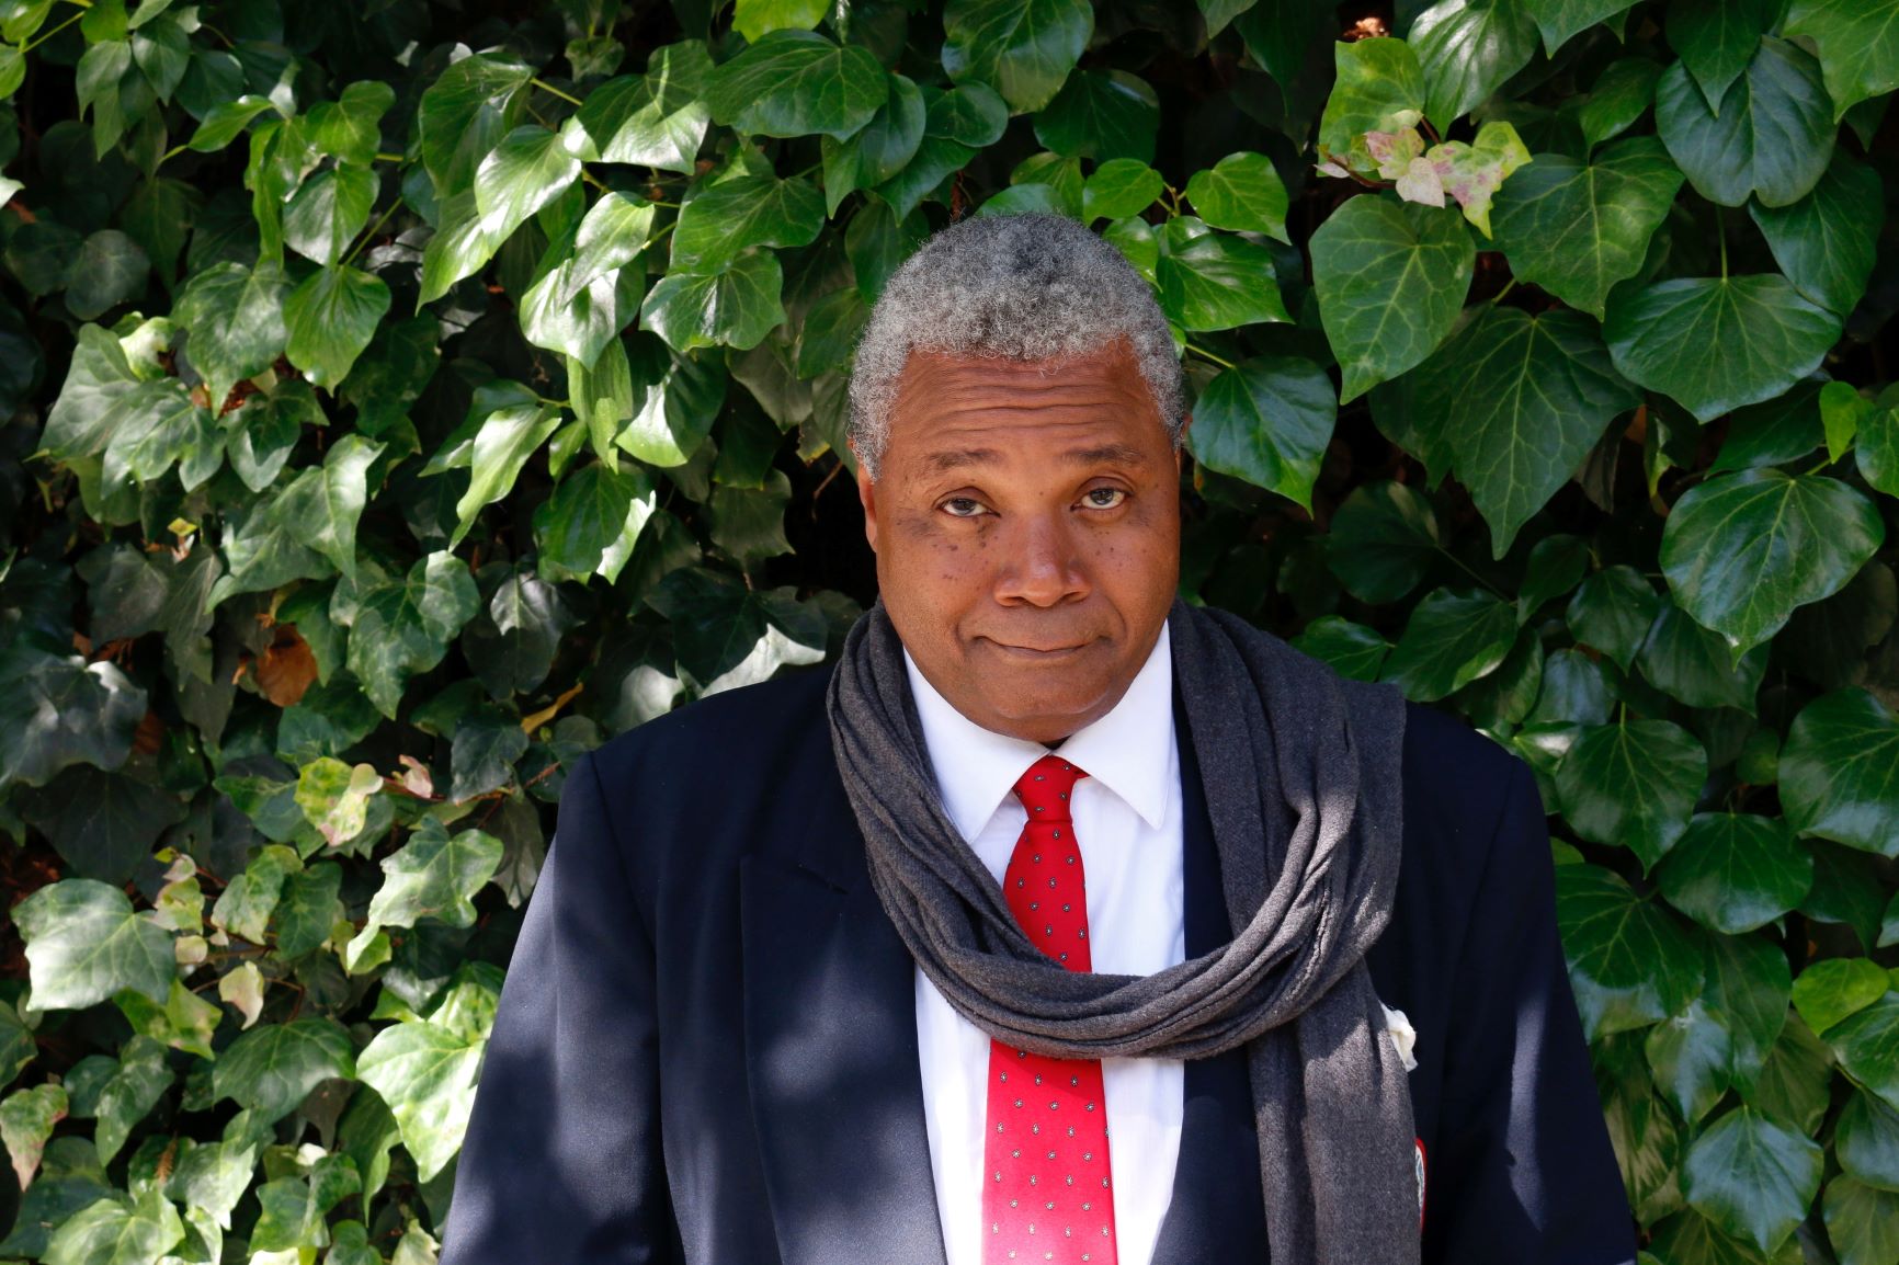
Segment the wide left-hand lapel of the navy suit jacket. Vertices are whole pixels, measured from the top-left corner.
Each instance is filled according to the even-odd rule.
[[[826,754],[824,771],[836,783]],[[741,868],[746,1075],[784,1265],[942,1265],[915,976],[841,786]]]

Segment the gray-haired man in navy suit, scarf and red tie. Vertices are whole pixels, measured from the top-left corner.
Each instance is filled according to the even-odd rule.
[[[1175,598],[1166,319],[974,218],[851,380],[830,672],[583,760],[444,1265],[1624,1265],[1527,765]]]

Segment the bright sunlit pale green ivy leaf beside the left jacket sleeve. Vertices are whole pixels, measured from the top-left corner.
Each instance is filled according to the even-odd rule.
[[[414,1020],[378,1031],[357,1060],[363,1083],[389,1104],[403,1145],[416,1159],[416,1176],[423,1181],[461,1149],[486,1045]]]

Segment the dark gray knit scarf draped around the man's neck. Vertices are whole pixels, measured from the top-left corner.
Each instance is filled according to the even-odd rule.
[[[1225,948],[1130,976],[1029,942],[942,807],[881,602],[828,697],[872,885],[931,982],[999,1041],[1058,1058],[1244,1045],[1276,1265],[1415,1265],[1411,1090],[1363,961],[1398,887],[1403,695],[1225,612],[1175,600],[1168,627],[1240,929]]]

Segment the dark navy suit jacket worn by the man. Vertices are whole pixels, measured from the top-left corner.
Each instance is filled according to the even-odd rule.
[[[942,1265],[913,967],[832,762],[826,680],[703,699],[570,773],[442,1265]],[[1177,699],[1175,718],[1198,955],[1231,931]],[[1426,1265],[1633,1261],[1529,765],[1407,705],[1403,817],[1369,965],[1419,1031]],[[1202,1261],[1267,1261],[1238,1054],[1187,1064],[1155,1265]]]

